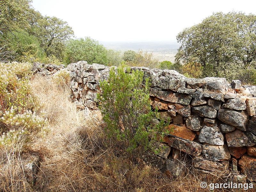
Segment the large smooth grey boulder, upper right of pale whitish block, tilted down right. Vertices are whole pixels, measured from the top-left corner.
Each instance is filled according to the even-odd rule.
[[[229,109],[220,109],[218,119],[223,123],[232,125],[242,131],[246,131],[246,126],[249,122],[249,116],[244,112],[238,112]]]

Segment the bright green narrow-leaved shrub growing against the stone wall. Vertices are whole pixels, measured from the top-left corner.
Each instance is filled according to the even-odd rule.
[[[151,139],[156,135],[159,137],[156,131],[161,131],[159,127],[153,127],[153,132],[148,131],[156,113],[149,103],[149,79],[145,79],[145,84],[142,80],[143,72],[140,70],[118,68],[116,73],[112,68],[108,81],[100,82],[102,95],[98,95],[98,99],[107,124],[106,133],[110,138],[125,143],[129,152],[138,145],[147,150],[150,148],[149,136]]]

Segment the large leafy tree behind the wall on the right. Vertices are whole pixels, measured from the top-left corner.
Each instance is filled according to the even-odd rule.
[[[220,76],[223,66],[253,67],[256,60],[256,15],[214,13],[177,36],[176,61],[203,66],[203,76]]]

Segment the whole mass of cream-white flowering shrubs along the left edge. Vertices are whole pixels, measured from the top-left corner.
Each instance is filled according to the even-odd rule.
[[[35,113],[31,67],[28,62],[0,63],[0,147],[5,149],[25,148],[45,123]]]

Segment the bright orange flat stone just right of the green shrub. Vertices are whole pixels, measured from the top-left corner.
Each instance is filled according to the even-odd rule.
[[[186,128],[185,126],[178,126],[178,125],[173,125],[170,124],[168,126],[169,130],[172,130],[170,134],[175,135],[177,137],[181,137],[183,139],[187,140],[194,140],[196,132],[191,131],[190,129]]]

